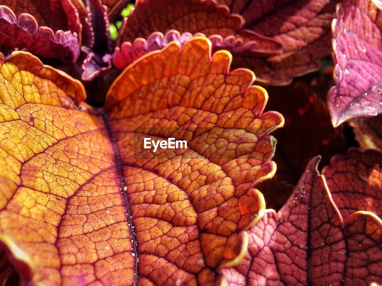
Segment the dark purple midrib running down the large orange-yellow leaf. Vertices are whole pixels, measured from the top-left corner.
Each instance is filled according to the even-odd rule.
[[[115,169],[116,169],[117,176],[118,176],[118,182],[120,185],[120,193],[121,193],[121,196],[123,199],[123,206],[125,208],[126,221],[128,222],[128,229],[129,229],[129,233],[130,233],[132,251],[135,254],[133,257],[134,258],[133,285],[135,286],[138,283],[138,246],[137,246],[136,233],[134,231],[134,226],[133,226],[131,205],[129,203],[127,193],[124,190],[124,188],[126,186],[126,182],[125,182],[125,177],[123,176],[120,152],[118,150],[117,142],[115,140],[113,130],[110,126],[110,122],[109,122],[108,116],[107,116],[104,108],[97,108],[96,110],[97,110],[100,118],[102,118],[102,120],[104,121],[104,127],[108,133],[108,136],[110,138],[110,144],[112,145],[112,148],[113,148],[113,161],[114,161]]]

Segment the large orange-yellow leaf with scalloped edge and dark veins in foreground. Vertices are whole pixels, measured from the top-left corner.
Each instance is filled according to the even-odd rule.
[[[199,37],[150,53],[102,109],[29,53],[2,59],[1,241],[25,283],[213,285],[238,262],[283,117],[210,49]],[[189,147],[158,154],[142,136]]]

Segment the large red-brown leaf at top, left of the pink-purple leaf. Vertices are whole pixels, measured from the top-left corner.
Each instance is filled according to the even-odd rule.
[[[331,52],[330,25],[336,0],[217,0],[217,3],[243,16],[244,29],[282,43],[280,55],[234,58],[233,66],[253,69],[262,81],[274,85],[290,83],[293,77],[318,69],[319,59]]]

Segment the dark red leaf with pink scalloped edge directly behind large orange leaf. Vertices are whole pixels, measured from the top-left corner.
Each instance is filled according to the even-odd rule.
[[[213,43],[224,42],[223,48],[233,55],[249,53],[253,56],[268,56],[280,52],[280,43],[253,31],[243,30],[243,24],[240,15],[230,14],[227,7],[217,5],[214,0],[141,0],[123,23],[117,45],[130,42],[134,46],[133,42],[137,38],[141,38],[140,42],[148,41],[149,45],[153,41],[160,43],[163,35],[160,36],[158,32],[166,34],[176,30],[180,34],[202,33]],[[150,37],[153,32],[154,36]],[[214,45],[214,50],[217,49],[219,46]]]

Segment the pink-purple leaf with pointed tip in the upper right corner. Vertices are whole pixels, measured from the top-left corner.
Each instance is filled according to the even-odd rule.
[[[333,22],[336,85],[328,93],[334,126],[382,112],[380,21],[381,11],[369,0],[339,4]]]

